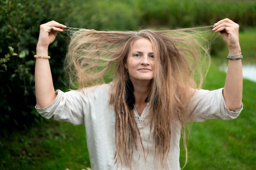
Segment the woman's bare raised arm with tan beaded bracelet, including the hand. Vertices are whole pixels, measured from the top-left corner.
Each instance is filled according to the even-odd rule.
[[[40,25],[40,33],[36,46],[35,66],[35,88],[37,108],[44,108],[51,104],[56,95],[53,86],[52,73],[48,56],[48,46],[51,44],[58,32],[62,32],[66,26],[55,21]],[[46,58],[41,58],[46,57]]]

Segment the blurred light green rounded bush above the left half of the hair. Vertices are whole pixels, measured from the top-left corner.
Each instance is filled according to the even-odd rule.
[[[66,4],[67,0],[62,0]],[[83,3],[81,3],[83,2]],[[70,27],[97,30],[128,30],[138,26],[139,17],[132,2],[119,0],[87,0],[72,2]]]

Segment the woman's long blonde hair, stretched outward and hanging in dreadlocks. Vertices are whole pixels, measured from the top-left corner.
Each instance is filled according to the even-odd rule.
[[[133,149],[137,150],[140,143],[144,150],[135,115],[125,96],[127,73],[124,64],[132,43],[140,38],[146,38],[152,43],[155,57],[155,75],[148,97],[148,123],[155,138],[154,157],[159,157],[162,168],[165,168],[171,147],[171,125],[180,124],[187,161],[184,124],[188,115],[185,110],[193,95],[191,89],[202,87],[210,65],[210,42],[207,41],[209,31],[205,30],[207,27],[167,31],[80,29],[72,32],[65,58],[70,83],[82,89],[104,83],[104,76],[108,73],[115,75],[110,105],[115,110],[116,163],[120,162],[121,166],[124,163],[131,169]]]

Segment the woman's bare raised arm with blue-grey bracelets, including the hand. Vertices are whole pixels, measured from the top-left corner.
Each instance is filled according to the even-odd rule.
[[[229,47],[227,77],[223,97],[229,110],[241,107],[243,95],[243,71],[241,48],[239,44],[239,25],[228,18],[220,20],[213,26],[213,31],[220,32]],[[232,60],[233,59],[233,60]]]

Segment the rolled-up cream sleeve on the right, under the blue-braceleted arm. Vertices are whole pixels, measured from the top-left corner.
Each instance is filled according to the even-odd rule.
[[[222,95],[223,88],[208,91],[196,90],[187,110],[187,121],[205,121],[207,119],[235,119],[243,110],[241,107],[236,110],[229,110]]]

